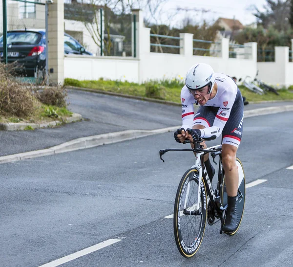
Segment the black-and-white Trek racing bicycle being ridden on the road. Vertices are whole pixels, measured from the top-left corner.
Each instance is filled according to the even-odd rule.
[[[199,249],[206,228],[206,221],[209,225],[221,221],[220,233],[225,222],[227,211],[227,192],[225,186],[225,173],[222,165],[222,145],[216,145],[204,149],[200,143],[203,140],[213,140],[210,138],[200,138],[194,143],[194,149],[163,149],[160,150],[160,158],[168,151],[191,151],[195,153],[195,164],[188,169],[178,186],[174,204],[174,236],[179,252],[186,258],[192,257]],[[190,143],[185,141],[184,143]],[[209,176],[204,165],[204,155],[210,153],[215,164],[215,157],[219,156],[219,172],[217,188],[213,189]],[[237,228],[228,235],[234,235],[240,226],[243,217],[245,204],[245,176],[242,163],[236,158],[236,165],[239,173],[238,193],[236,199]],[[209,203],[207,203],[208,195]]]

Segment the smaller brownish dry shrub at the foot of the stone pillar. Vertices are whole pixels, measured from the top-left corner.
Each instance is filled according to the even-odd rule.
[[[62,86],[46,87],[35,93],[36,97],[46,105],[66,107],[67,90]]]

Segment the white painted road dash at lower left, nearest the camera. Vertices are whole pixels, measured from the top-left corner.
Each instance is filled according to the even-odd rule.
[[[104,248],[104,247],[106,247],[108,245],[113,245],[113,244],[115,244],[115,243],[117,243],[119,241],[122,241],[122,239],[108,239],[108,240],[106,240],[104,242],[101,242],[101,243],[99,243],[97,245],[92,245],[90,247],[84,248],[83,250],[77,251],[77,252],[75,252],[73,254],[70,254],[70,255],[65,256],[63,258],[60,258],[58,260],[46,263],[46,264],[44,264],[44,265],[42,265],[40,267],[56,267],[56,266],[62,265],[64,263],[70,262],[72,260],[75,260],[75,259],[77,259],[79,257],[82,257],[82,256],[84,256],[86,254],[89,254],[89,253],[92,253],[94,251],[97,251],[97,250],[99,250],[101,248]]]

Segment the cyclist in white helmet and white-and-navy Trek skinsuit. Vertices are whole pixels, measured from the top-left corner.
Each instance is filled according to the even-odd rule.
[[[182,128],[174,133],[178,143],[189,139],[195,142],[199,137],[217,137],[222,134],[222,163],[228,195],[228,209],[223,225],[224,232],[237,228],[236,198],[238,191],[238,170],[236,152],[243,130],[243,99],[233,79],[222,73],[215,73],[207,64],[192,66],[181,89]],[[200,105],[194,114],[193,104]],[[205,142],[203,142],[207,148]],[[191,144],[194,148],[194,145]],[[205,155],[205,166],[210,181],[215,170]]]

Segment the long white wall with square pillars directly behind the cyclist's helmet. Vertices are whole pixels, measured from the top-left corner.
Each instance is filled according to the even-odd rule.
[[[136,55],[133,57],[81,57],[65,56],[64,77],[75,79],[126,80],[143,83],[156,79],[185,79],[188,69],[196,63],[207,63],[216,72],[223,72],[231,76],[255,76],[256,73],[256,43],[248,43],[251,55],[248,59],[229,58],[229,39],[222,39],[221,56],[206,57],[193,56],[193,35],[180,34],[180,54],[165,54],[150,52],[150,29],[143,25],[143,13],[134,10],[137,18]]]

